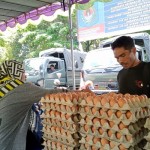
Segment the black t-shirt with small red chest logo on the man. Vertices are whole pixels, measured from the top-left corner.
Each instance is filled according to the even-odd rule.
[[[146,94],[150,97],[150,63],[141,62],[135,67],[122,69],[117,80],[120,93]]]

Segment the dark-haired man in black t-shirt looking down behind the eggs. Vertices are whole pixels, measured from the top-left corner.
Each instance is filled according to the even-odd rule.
[[[137,58],[133,39],[121,36],[111,44],[111,48],[114,57],[123,67],[117,76],[119,92],[150,97],[150,62]]]

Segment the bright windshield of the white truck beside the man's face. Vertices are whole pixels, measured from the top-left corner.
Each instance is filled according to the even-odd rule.
[[[108,68],[120,66],[117,60],[114,58],[113,51],[111,49],[91,51],[87,54],[84,61],[84,70],[91,70],[95,68]]]

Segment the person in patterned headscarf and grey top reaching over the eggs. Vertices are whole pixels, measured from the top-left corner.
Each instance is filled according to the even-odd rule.
[[[25,80],[22,63],[9,60],[0,65],[0,150],[25,150],[33,103],[45,94],[63,91],[46,90]]]

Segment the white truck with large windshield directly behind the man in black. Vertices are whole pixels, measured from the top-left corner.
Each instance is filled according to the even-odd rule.
[[[140,46],[136,48],[138,58],[145,61],[144,49]],[[117,91],[117,74],[121,69],[122,66],[114,58],[111,47],[91,50],[85,58],[80,81],[82,85],[83,81],[92,81],[95,90]]]

